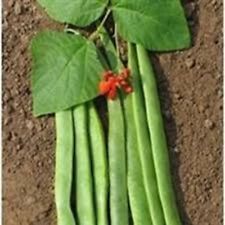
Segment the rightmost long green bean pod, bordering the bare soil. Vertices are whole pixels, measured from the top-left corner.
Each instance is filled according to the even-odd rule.
[[[148,127],[159,196],[167,225],[181,225],[170,174],[170,163],[160,109],[156,80],[147,51],[137,45],[137,55],[144,90]]]

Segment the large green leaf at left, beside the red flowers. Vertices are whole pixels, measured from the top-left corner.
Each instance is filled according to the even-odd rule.
[[[102,65],[95,45],[81,36],[43,32],[32,41],[36,116],[61,111],[98,95]]]

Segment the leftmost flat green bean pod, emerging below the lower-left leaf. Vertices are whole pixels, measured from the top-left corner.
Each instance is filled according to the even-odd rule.
[[[55,202],[58,225],[75,225],[70,205],[73,174],[74,133],[72,111],[55,114],[56,120],[56,162]]]

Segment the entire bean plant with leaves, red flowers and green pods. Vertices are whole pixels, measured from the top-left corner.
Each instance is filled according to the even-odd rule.
[[[190,46],[180,1],[37,2],[65,27],[31,44],[33,113],[55,115],[57,224],[181,225],[149,57]]]

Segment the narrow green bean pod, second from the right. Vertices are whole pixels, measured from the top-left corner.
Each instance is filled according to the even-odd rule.
[[[135,47],[131,43],[128,43],[128,59],[134,87],[134,92],[132,94],[132,106],[135,128],[137,131],[138,154],[141,160],[141,171],[143,174],[149,210],[152,218],[152,224],[163,225],[165,224],[165,220],[159,198],[151,140],[145,112],[144,96],[140,83],[137,54]]]

